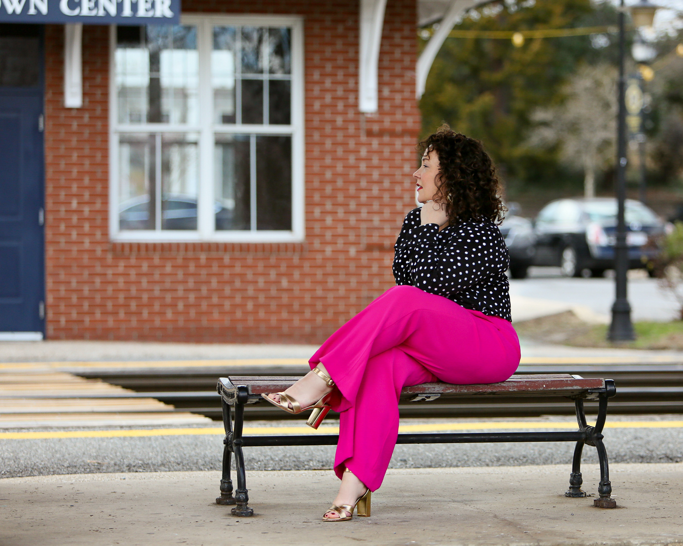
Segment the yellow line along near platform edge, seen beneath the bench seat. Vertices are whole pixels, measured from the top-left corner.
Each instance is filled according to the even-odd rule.
[[[575,429],[575,422],[445,422],[424,425],[401,425],[400,433],[439,432],[439,431],[477,431],[511,429]],[[680,429],[683,421],[615,421],[605,425],[606,429]],[[243,435],[285,435],[285,434],[338,434],[339,427],[245,427]],[[2,432],[0,440],[49,440],[54,438],[117,438],[149,436],[191,436],[223,435],[222,427],[201,427],[187,429],[126,429],[109,431],[42,431],[42,432]]]

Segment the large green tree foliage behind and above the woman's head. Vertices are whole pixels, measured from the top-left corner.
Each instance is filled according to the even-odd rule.
[[[457,29],[558,29],[613,24],[608,3],[590,0],[505,1],[479,8]],[[420,108],[423,136],[442,121],[481,139],[508,186],[581,188],[580,169],[562,167],[557,147],[526,143],[531,113],[563,101],[561,89],[581,62],[615,58],[613,38],[596,49],[589,36],[527,40],[516,48],[510,40],[448,38],[438,53]]]

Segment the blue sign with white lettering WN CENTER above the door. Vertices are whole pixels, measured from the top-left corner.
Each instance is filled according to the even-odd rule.
[[[180,0],[0,0],[0,23],[173,25]]]

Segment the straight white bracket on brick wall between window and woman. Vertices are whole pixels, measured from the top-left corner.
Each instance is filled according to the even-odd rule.
[[[358,75],[358,107],[361,112],[377,111],[377,66],[386,5],[387,0],[361,0]]]

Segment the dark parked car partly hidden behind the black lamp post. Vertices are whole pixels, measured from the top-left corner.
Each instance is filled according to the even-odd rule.
[[[628,268],[646,268],[656,257],[656,238],[665,224],[640,201],[626,199]],[[546,205],[534,222],[534,265],[559,265],[564,276],[602,276],[614,267],[617,200],[558,199]]]

